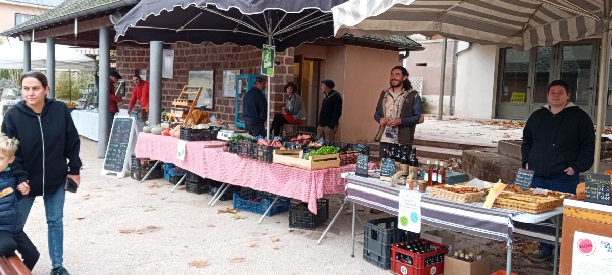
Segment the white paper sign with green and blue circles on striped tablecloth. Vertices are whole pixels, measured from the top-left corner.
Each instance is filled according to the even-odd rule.
[[[398,228],[420,233],[420,198],[421,194],[406,189],[400,190],[400,209]]]

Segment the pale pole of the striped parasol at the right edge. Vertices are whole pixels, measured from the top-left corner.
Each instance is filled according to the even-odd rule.
[[[593,172],[599,173],[602,155],[602,131],[606,121],[606,95],[608,94],[608,74],[610,73],[610,9],[612,0],[603,1],[604,18],[602,21],[602,53],[599,56],[599,87],[597,87],[597,124],[595,125],[595,154]]]

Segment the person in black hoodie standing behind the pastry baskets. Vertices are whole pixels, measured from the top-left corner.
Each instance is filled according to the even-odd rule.
[[[548,105],[531,114],[523,130],[523,167],[535,171],[531,186],[576,193],[579,174],[593,164],[595,131],[583,110],[568,103],[569,86],[556,80],[548,85]],[[540,243],[529,259],[550,260],[553,246]]]

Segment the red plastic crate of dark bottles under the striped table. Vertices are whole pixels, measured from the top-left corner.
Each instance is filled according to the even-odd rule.
[[[434,265],[425,266],[425,259],[436,255],[446,255],[449,252],[447,246],[442,244],[430,242],[431,247],[436,248],[435,251],[425,252],[417,254],[415,252],[408,251],[407,249],[399,248],[397,244],[391,245],[391,272],[395,274],[407,275],[407,274],[426,274],[436,275],[444,273],[444,262],[439,262]],[[395,254],[401,253],[412,258],[412,265],[395,260]],[[444,256],[442,256],[444,257]],[[444,259],[444,258],[442,258]]]

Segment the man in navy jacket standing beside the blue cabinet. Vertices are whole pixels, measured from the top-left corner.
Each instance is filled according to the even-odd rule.
[[[256,78],[255,85],[242,98],[244,128],[251,136],[266,136],[267,100],[263,94],[266,78]]]

